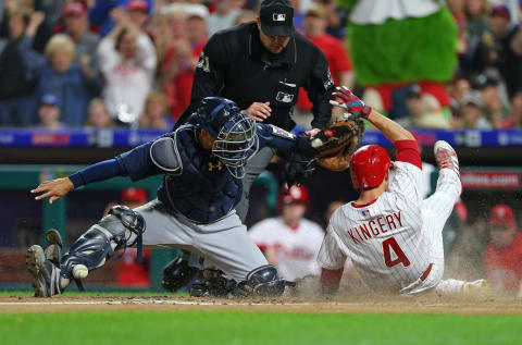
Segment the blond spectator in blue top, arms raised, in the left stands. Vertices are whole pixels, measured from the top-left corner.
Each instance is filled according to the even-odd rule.
[[[61,100],[62,121],[70,127],[82,127],[87,106],[101,88],[100,81],[86,61],[74,59],[75,46],[64,34],[54,35],[46,47],[48,63],[41,70],[37,95],[57,95]]]

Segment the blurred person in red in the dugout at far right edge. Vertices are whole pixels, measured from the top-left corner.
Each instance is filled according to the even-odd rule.
[[[485,254],[487,279],[497,291],[518,293],[522,287],[522,234],[513,210],[506,205],[495,206],[488,226],[492,242]]]

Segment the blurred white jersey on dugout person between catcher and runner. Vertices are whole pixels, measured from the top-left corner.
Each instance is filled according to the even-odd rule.
[[[253,225],[249,234],[261,249],[276,249],[281,278],[294,281],[308,274],[319,275],[316,257],[324,237],[319,224],[302,219],[297,229],[291,229],[281,217],[269,218]]]

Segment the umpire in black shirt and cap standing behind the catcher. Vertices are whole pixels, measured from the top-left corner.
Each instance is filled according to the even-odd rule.
[[[313,103],[313,135],[325,128],[332,114],[328,103],[334,89],[323,52],[294,28],[294,8],[288,0],[264,0],[256,22],[214,34],[201,52],[192,85],[190,104],[178,124],[194,113],[208,96],[234,100],[249,118],[291,131],[294,104],[303,87]],[[236,207],[241,220],[248,211],[252,182],[273,157],[261,149],[247,164],[241,201]]]

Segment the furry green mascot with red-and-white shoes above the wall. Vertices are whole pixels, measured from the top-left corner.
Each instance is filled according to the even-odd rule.
[[[366,102],[393,108],[397,89],[418,84],[431,111],[449,106],[444,83],[457,66],[457,24],[439,0],[338,0],[350,10],[348,39]]]

